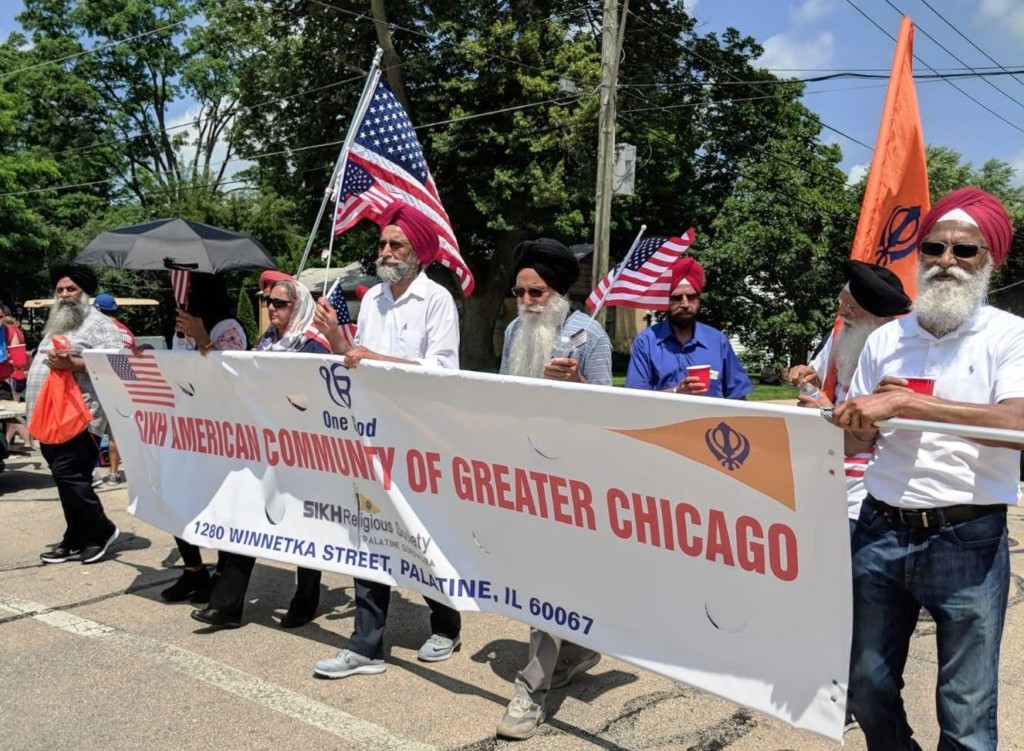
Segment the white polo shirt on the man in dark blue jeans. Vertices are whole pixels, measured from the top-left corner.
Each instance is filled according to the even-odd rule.
[[[982,306],[958,329],[936,339],[913,314],[867,339],[850,399],[870,393],[883,376],[935,378],[934,395],[997,404],[1024,398],[1024,319]],[[864,473],[868,492],[902,508],[961,503],[1016,505],[1020,452],[956,435],[883,430]]]

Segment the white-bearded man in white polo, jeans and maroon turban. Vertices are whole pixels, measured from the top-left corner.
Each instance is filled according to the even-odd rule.
[[[922,608],[936,624],[939,749],[996,748],[1018,447],[874,423],[898,415],[1024,429],[1024,320],[984,303],[1012,237],[1002,204],[983,191],[936,203],[919,234],[913,312],[871,334],[836,410],[848,454],[876,442],[851,543],[850,695],[870,751],[921,748],[900,690]],[[910,390],[908,377],[934,379],[933,394]]]

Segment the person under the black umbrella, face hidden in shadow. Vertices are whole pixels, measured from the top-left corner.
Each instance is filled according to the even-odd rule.
[[[177,309],[171,348],[199,351],[246,348],[246,331],[231,315],[227,281],[221,274],[191,275],[188,310]],[[207,602],[213,586],[210,573],[203,565],[198,545],[175,537],[184,570],[174,584],[160,593],[168,602]],[[218,558],[217,569],[222,561]]]

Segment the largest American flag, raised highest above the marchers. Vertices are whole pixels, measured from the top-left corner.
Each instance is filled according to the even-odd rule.
[[[378,81],[357,124],[336,198],[335,235],[351,230],[364,218],[376,221],[395,199],[420,209],[433,220],[440,236],[437,260],[459,278],[464,295],[473,293],[473,274],[459,253],[452,221],[437,195],[413,121],[383,80]]]

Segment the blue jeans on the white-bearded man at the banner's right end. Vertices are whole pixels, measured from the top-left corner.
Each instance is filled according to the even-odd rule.
[[[935,620],[939,751],[995,751],[999,642],[1010,591],[1006,509],[911,529],[865,503],[852,541],[850,700],[871,751],[920,751],[903,668],[922,608]]]

